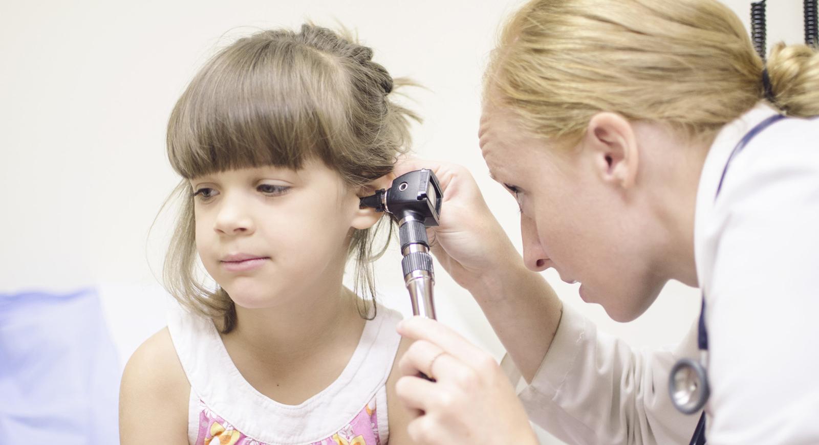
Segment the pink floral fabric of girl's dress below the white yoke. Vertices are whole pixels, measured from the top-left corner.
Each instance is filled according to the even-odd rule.
[[[249,438],[199,401],[199,433],[196,445],[269,445]],[[336,434],[312,445],[381,445],[375,398]]]

